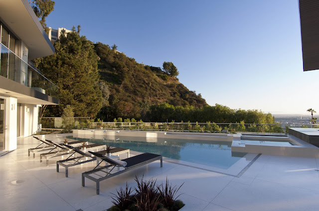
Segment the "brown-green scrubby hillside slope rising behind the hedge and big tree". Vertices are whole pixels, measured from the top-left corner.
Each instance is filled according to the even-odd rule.
[[[190,91],[176,77],[160,68],[139,64],[108,45],[97,43],[100,80],[109,88],[108,104],[98,117],[104,121],[114,118],[142,118],[151,105],[169,103],[174,106],[203,107],[207,105],[200,94]]]

